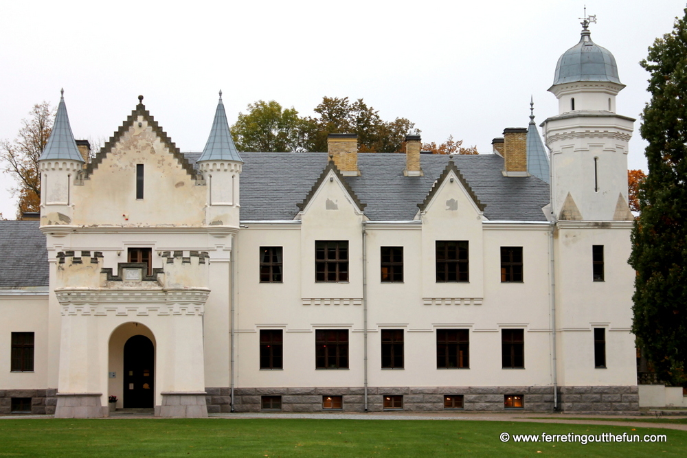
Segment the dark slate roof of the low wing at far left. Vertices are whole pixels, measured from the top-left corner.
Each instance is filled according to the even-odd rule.
[[[45,236],[38,221],[0,221],[0,289],[48,286]]]

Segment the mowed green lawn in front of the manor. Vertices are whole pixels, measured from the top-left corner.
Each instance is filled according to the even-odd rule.
[[[502,443],[514,434],[666,434],[666,443]],[[471,420],[0,420],[0,457],[660,457],[687,432]]]

